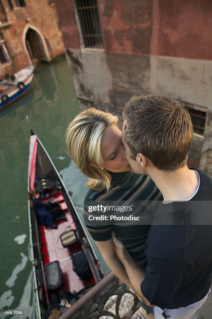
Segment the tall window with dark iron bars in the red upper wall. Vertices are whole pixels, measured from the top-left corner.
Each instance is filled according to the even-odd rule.
[[[103,48],[97,0],[75,0],[84,46]]]

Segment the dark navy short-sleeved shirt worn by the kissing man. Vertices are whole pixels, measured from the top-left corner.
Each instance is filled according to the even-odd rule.
[[[212,180],[201,170],[195,170],[200,175],[200,186],[194,197],[185,202],[192,204],[192,211],[182,214],[184,222],[188,216],[188,223],[152,225],[145,244],[148,264],[141,291],[152,305],[162,309],[186,307],[201,300],[212,283],[212,205],[208,205]],[[181,206],[182,202],[160,204],[156,220],[157,216],[167,216],[171,207],[178,220]],[[173,218],[173,211],[171,215]],[[209,223],[191,223],[191,217],[195,221],[201,216],[204,221],[204,215],[207,221],[209,216]]]

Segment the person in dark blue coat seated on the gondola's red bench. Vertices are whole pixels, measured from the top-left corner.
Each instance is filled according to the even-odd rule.
[[[42,225],[47,225],[51,228],[57,228],[55,221],[58,219],[66,220],[58,203],[58,198],[53,199],[49,203],[42,203],[39,199],[40,194],[36,194],[32,189],[28,191],[28,197],[31,199],[35,213],[40,217]]]

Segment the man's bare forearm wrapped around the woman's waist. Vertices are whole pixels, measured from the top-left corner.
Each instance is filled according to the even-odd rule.
[[[124,265],[127,272],[130,283],[135,290],[135,293],[150,307],[156,307],[151,305],[149,300],[147,300],[143,293],[141,292],[141,283],[144,280],[144,271],[142,268],[132,259],[128,254],[128,251],[124,244],[115,236],[112,231],[113,244],[116,250],[116,254]]]

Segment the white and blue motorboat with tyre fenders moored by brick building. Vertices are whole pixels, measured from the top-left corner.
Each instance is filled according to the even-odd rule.
[[[34,76],[34,66],[28,66],[0,81],[0,110],[25,94]]]

